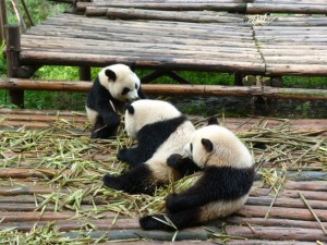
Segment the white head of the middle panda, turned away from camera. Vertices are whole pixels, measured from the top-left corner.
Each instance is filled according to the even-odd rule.
[[[125,131],[129,137],[135,139],[137,132],[143,126],[179,115],[181,112],[167,101],[141,99],[126,108]]]

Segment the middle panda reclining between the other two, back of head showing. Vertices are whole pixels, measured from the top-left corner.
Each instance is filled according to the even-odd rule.
[[[183,168],[173,171],[167,166],[167,158],[183,150],[195,127],[171,103],[149,99],[134,101],[125,111],[125,131],[132,139],[137,139],[137,146],[121,149],[118,159],[132,169],[120,176],[106,174],[106,186],[153,195],[157,186],[169,183],[171,174],[174,180],[183,176]]]

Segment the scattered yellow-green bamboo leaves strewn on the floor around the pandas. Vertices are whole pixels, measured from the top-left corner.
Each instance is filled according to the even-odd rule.
[[[205,122],[197,120],[195,125],[202,126]],[[181,192],[199,177],[199,174],[186,176],[158,188],[155,196],[129,195],[104,187],[101,177],[105,174],[121,174],[128,170],[128,166],[118,161],[116,156],[119,148],[130,147],[133,142],[124,133],[120,133],[118,139],[93,140],[88,134],[72,131],[70,126],[74,125],[63,124],[59,130],[0,132],[0,168],[29,168],[43,172],[44,177],[32,180],[57,189],[35,194],[35,210],[70,210],[75,212],[76,218],[85,220],[104,219],[102,213],[108,211],[129,217],[157,213],[165,209],[165,198],[169,193]],[[320,133],[291,131],[287,120],[269,128],[267,121],[262,120],[250,131],[238,135],[252,150],[264,184],[271,186],[277,195],[287,181],[288,170],[327,170],[327,140]],[[258,149],[255,147],[258,145],[266,148]],[[282,169],[281,175],[277,168]],[[8,177],[8,186],[16,185],[15,175]],[[66,240],[59,238],[60,232],[52,223],[26,234],[15,229],[0,231],[0,242],[17,237],[17,241],[35,244],[37,236],[44,241],[52,236],[53,240],[62,240],[62,244]],[[84,236],[72,244],[83,244],[90,237]]]

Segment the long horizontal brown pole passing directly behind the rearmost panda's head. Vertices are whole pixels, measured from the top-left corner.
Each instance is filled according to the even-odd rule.
[[[66,81],[33,81],[20,78],[0,78],[0,89],[26,89],[26,90],[56,90],[56,91],[83,91],[87,93],[92,83]],[[201,95],[201,96],[263,96],[277,99],[299,100],[327,100],[327,90],[305,88],[278,88],[278,87],[243,87],[219,85],[158,85],[144,84],[143,88],[152,95]]]

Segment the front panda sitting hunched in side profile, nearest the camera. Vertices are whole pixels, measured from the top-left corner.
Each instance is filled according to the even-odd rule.
[[[184,147],[185,157],[172,155],[168,166],[179,169],[185,164],[201,168],[197,182],[166,199],[166,217],[177,229],[194,226],[216,218],[227,217],[246,201],[254,181],[254,160],[245,145],[229,130],[207,125],[195,131]],[[171,230],[158,221],[164,215],[140,219],[145,230]]]

